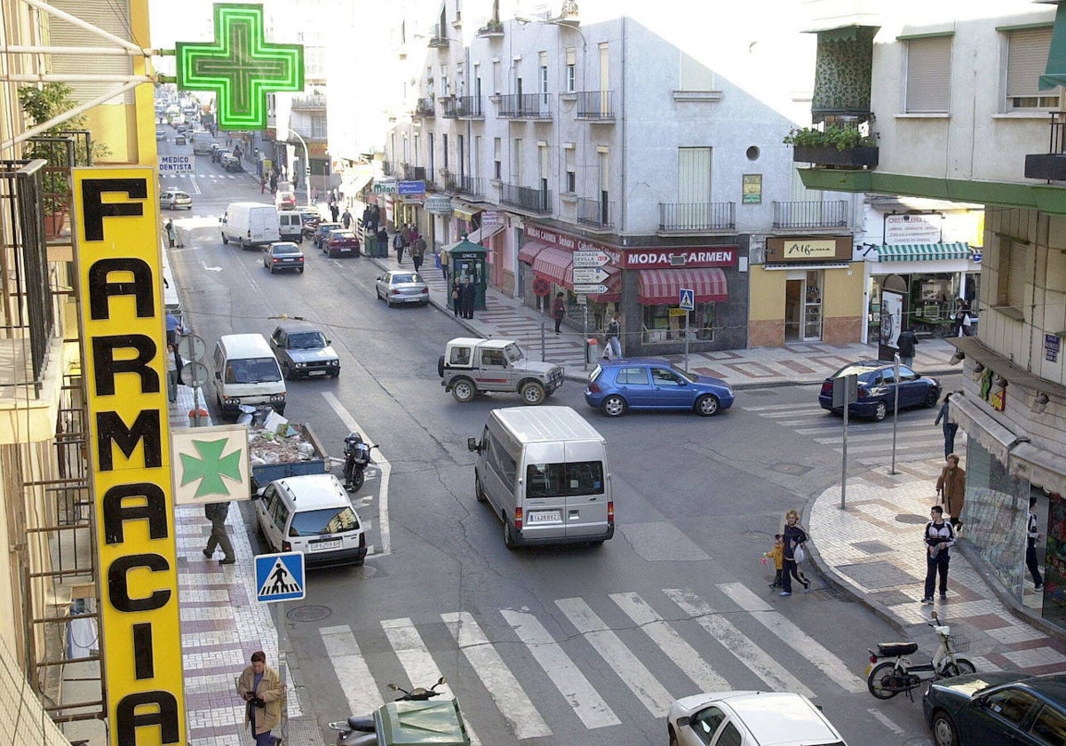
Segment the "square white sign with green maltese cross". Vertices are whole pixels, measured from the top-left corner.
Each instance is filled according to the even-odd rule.
[[[248,431],[244,425],[175,429],[171,444],[177,504],[248,499]]]

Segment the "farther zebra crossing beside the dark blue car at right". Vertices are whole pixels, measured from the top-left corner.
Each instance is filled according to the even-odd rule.
[[[796,404],[769,404],[764,406],[745,406],[759,417],[766,418],[788,427],[821,445],[831,448],[837,453],[843,451],[842,418],[830,415],[818,406],[818,403],[801,402]],[[936,409],[909,409],[900,411],[897,423],[897,453],[927,457],[937,454],[943,448],[943,432],[939,425],[934,425]],[[964,437],[958,434],[959,441]],[[882,422],[851,418],[847,423],[847,453],[853,456],[881,456],[892,447],[892,422],[889,415]]]

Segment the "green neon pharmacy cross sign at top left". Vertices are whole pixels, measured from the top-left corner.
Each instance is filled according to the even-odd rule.
[[[214,91],[219,128],[266,127],[266,94],[304,90],[304,47],[268,44],[263,6],[214,5],[214,44],[178,42],[177,83],[184,91]]]

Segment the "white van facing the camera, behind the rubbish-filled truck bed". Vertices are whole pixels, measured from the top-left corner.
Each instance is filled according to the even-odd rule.
[[[270,404],[285,413],[285,379],[262,335],[224,335],[214,345],[214,391],[223,418],[242,404]]]

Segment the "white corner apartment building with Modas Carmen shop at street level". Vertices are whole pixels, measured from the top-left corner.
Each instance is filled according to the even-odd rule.
[[[627,353],[857,340],[861,197],[806,190],[782,143],[809,116],[797,9],[768,25],[744,9],[443,3],[420,54],[406,39],[393,181],[375,184],[388,220],[441,248],[468,233],[488,249],[475,279],[542,309],[563,292],[572,328],[618,312]],[[775,254],[810,241],[833,250]],[[577,250],[610,262],[576,280]]]

